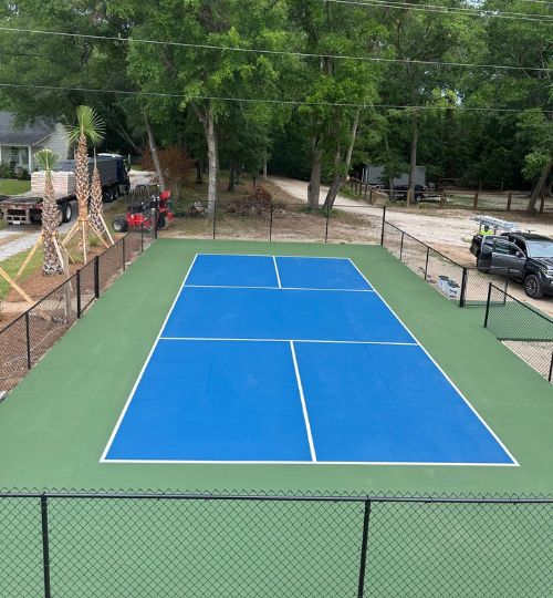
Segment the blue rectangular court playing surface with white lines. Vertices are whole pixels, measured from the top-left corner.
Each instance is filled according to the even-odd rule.
[[[102,462],[517,465],[349,259],[196,256]]]

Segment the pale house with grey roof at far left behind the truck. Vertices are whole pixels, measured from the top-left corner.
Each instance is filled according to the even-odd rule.
[[[0,163],[11,165],[19,173],[23,168],[35,171],[33,155],[40,150],[51,150],[66,159],[70,143],[65,127],[46,118],[36,118],[23,127],[15,125],[12,112],[0,111]]]

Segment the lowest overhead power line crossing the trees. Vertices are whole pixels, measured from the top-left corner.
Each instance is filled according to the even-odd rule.
[[[326,107],[357,107],[357,109],[385,109],[385,110],[450,110],[456,109],[465,112],[521,112],[518,109],[500,109],[500,107],[471,107],[471,106],[437,106],[437,105],[394,105],[394,104],[359,104],[353,102],[310,102],[306,100],[272,100],[263,97],[232,97],[220,95],[188,95],[184,93],[166,93],[166,92],[146,92],[134,90],[98,90],[95,87],[65,87],[58,85],[31,85],[24,83],[0,83],[0,87],[15,87],[15,89],[29,89],[29,90],[44,90],[44,91],[59,91],[59,92],[84,92],[84,93],[98,93],[98,94],[121,94],[121,95],[140,95],[145,97],[173,97],[178,100],[212,100],[218,102],[238,102],[247,104],[282,104],[291,106],[326,106]],[[552,111],[543,111],[549,114]]]

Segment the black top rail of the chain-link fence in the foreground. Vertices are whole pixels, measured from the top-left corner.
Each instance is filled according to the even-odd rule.
[[[269,494],[179,494],[179,493],[133,493],[133,492],[0,492],[2,498],[101,498],[101,499],[145,499],[145,501],[246,501],[289,503],[435,503],[435,504],[553,504],[552,497],[451,497],[451,496],[386,496],[386,495],[269,495]]]

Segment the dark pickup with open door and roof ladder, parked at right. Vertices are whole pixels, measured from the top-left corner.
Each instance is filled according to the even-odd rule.
[[[528,297],[553,295],[553,239],[530,233],[474,235],[470,252],[480,271],[522,282]]]

